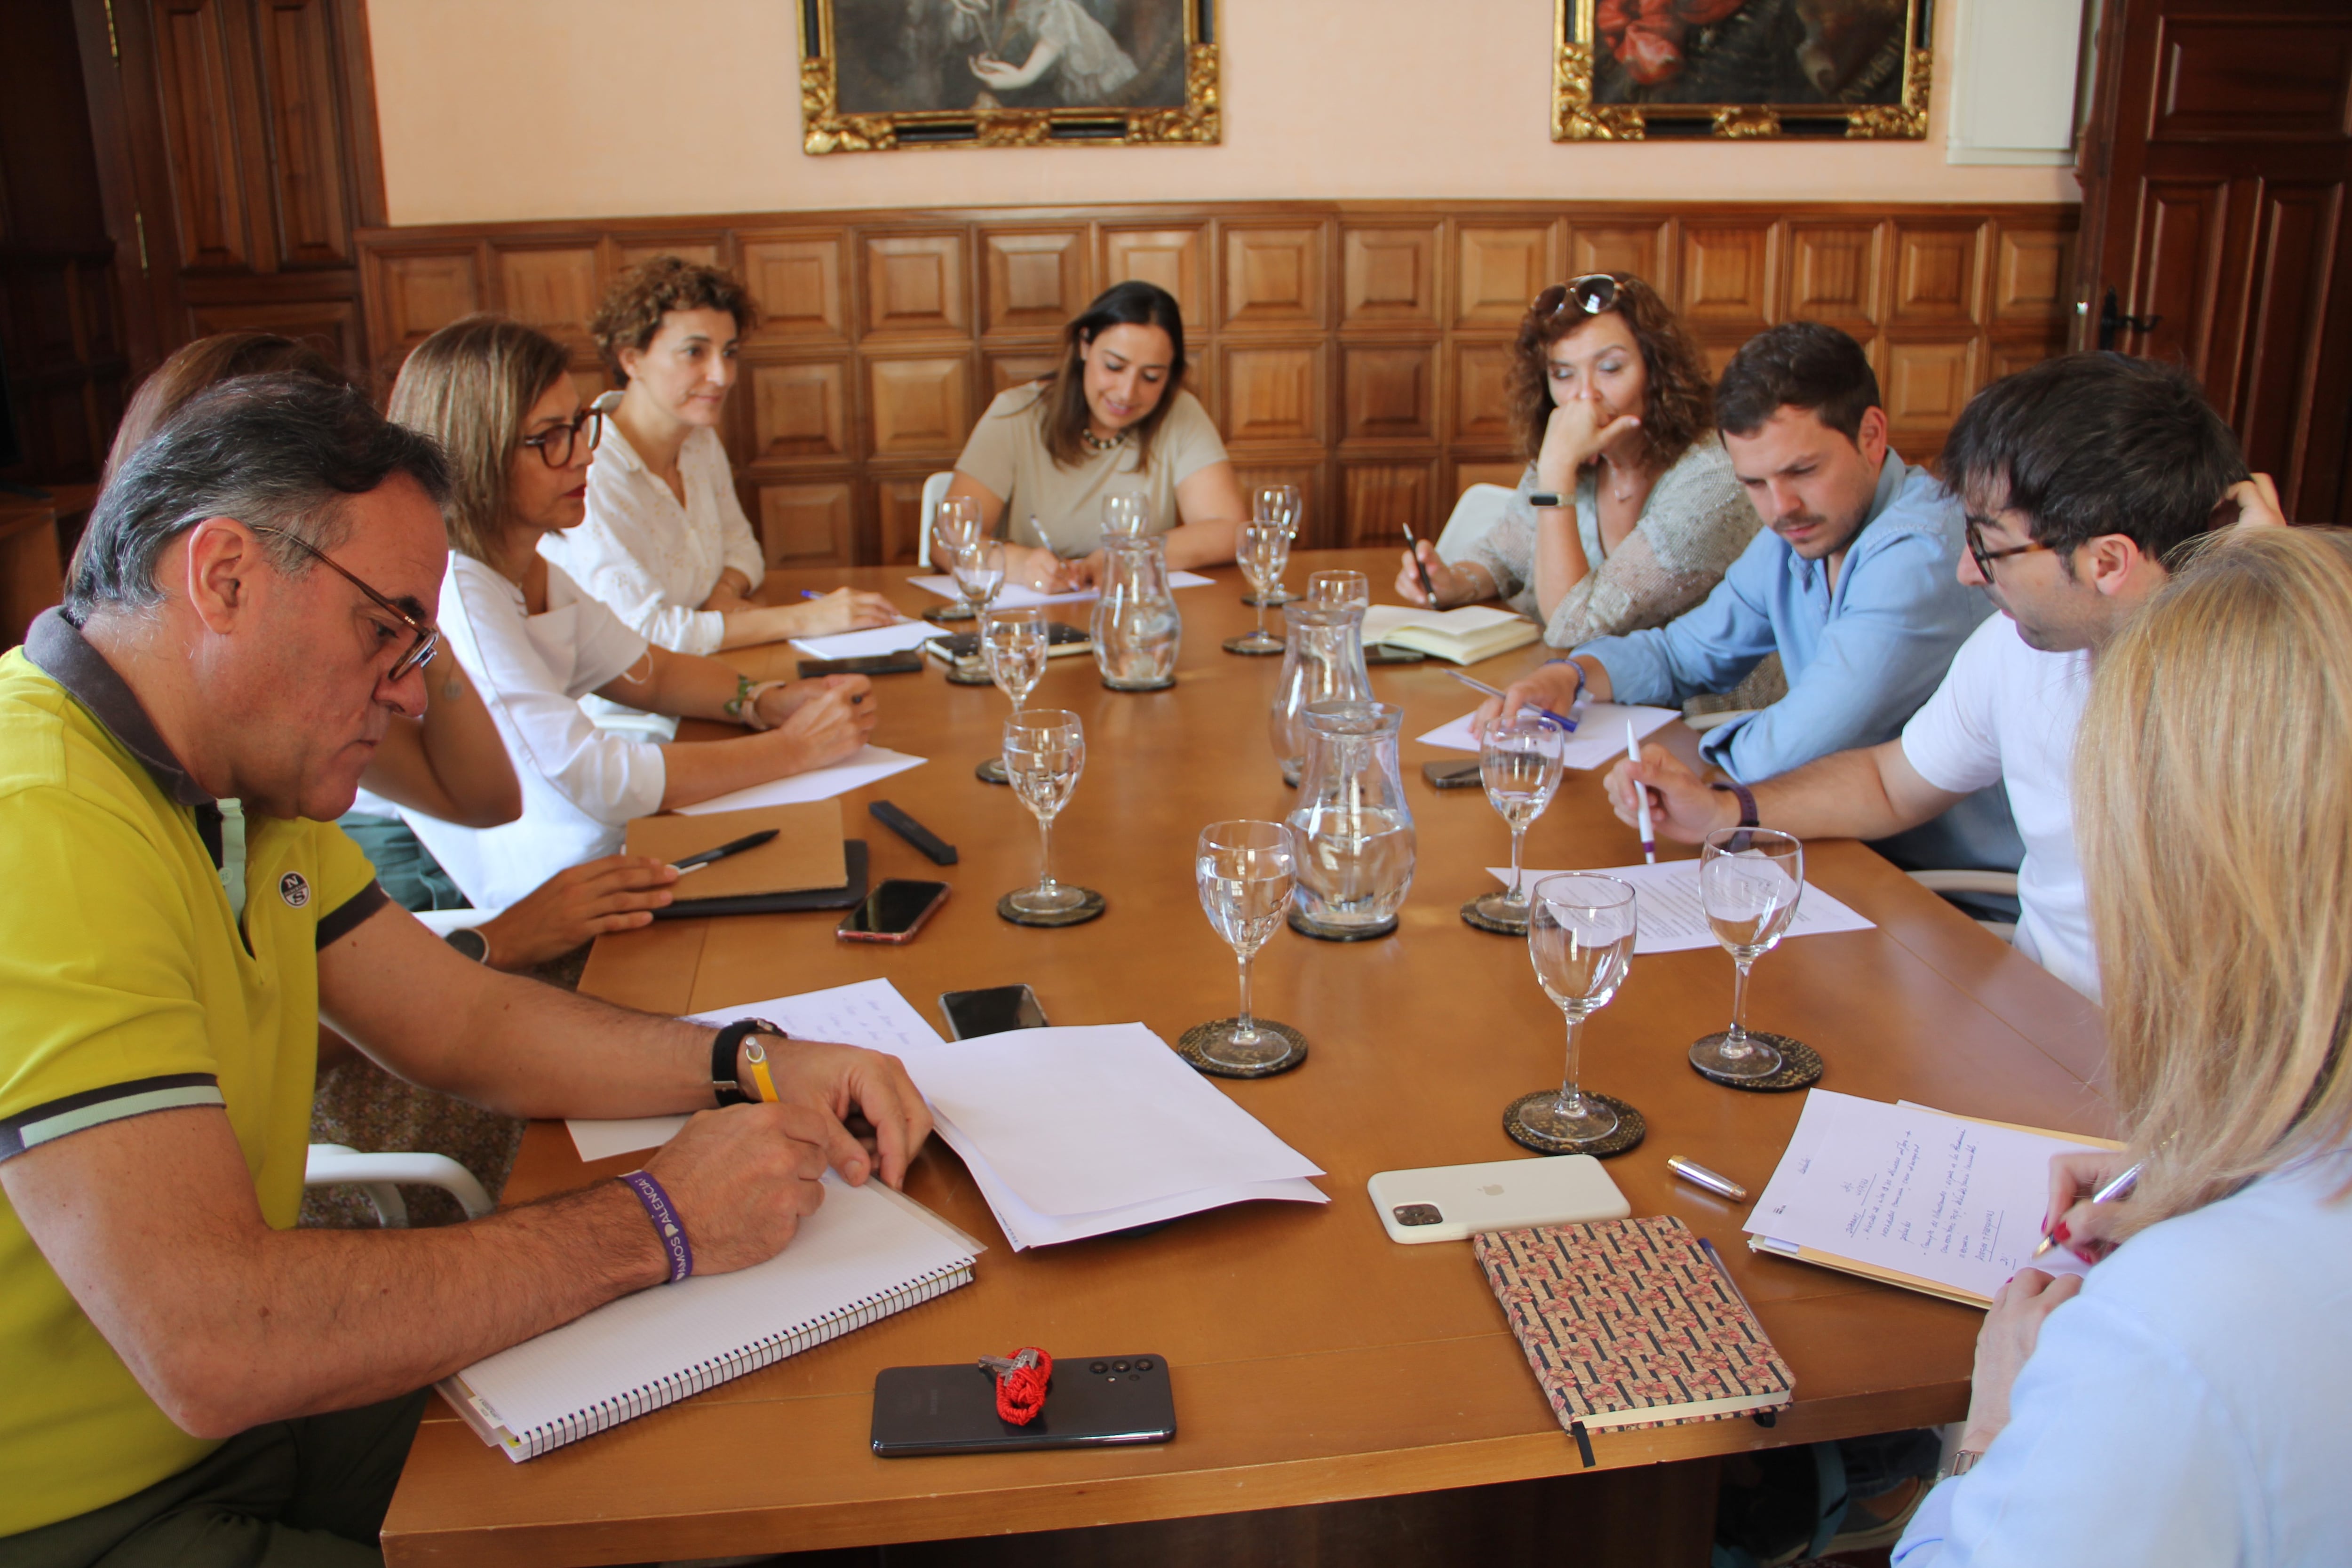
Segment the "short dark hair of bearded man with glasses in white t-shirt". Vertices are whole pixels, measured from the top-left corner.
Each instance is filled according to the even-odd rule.
[[[1943,482],[1976,515],[2016,508],[2034,543],[2072,552],[2122,534],[2166,562],[2213,529],[2246,477],[2237,435],[2176,364],[2058,355],[1969,400],[1943,444]],[[2234,515],[2232,515],[2234,517]]]

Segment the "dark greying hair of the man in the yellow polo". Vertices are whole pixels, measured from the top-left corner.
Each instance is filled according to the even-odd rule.
[[[99,496],[66,574],[66,618],[162,602],[155,562],[207,517],[287,529],[327,548],[348,536],[343,501],[393,475],[433,505],[449,498],[449,465],[430,437],[390,423],[348,386],[299,371],[238,376],[191,397],[132,451]],[[287,576],[310,557],[266,541]]]

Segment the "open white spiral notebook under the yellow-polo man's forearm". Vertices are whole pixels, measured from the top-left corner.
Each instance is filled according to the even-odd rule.
[[[767,1262],[604,1302],[435,1387],[520,1465],[969,1286],[981,1251],[880,1180],[828,1173],[826,1201]]]

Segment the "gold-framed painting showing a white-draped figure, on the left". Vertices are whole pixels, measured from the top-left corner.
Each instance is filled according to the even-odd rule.
[[[1216,0],[800,0],[800,146],[1216,143]]]

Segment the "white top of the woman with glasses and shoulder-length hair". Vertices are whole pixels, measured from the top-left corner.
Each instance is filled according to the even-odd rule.
[[[522,780],[522,816],[459,827],[400,811],[449,879],[482,910],[503,910],[541,882],[621,849],[630,818],[661,809],[661,748],[597,729],[581,698],[644,658],[644,637],[548,567],[548,609],[522,614],[522,590],[470,555],[449,552],[440,628],[473,672]]]

